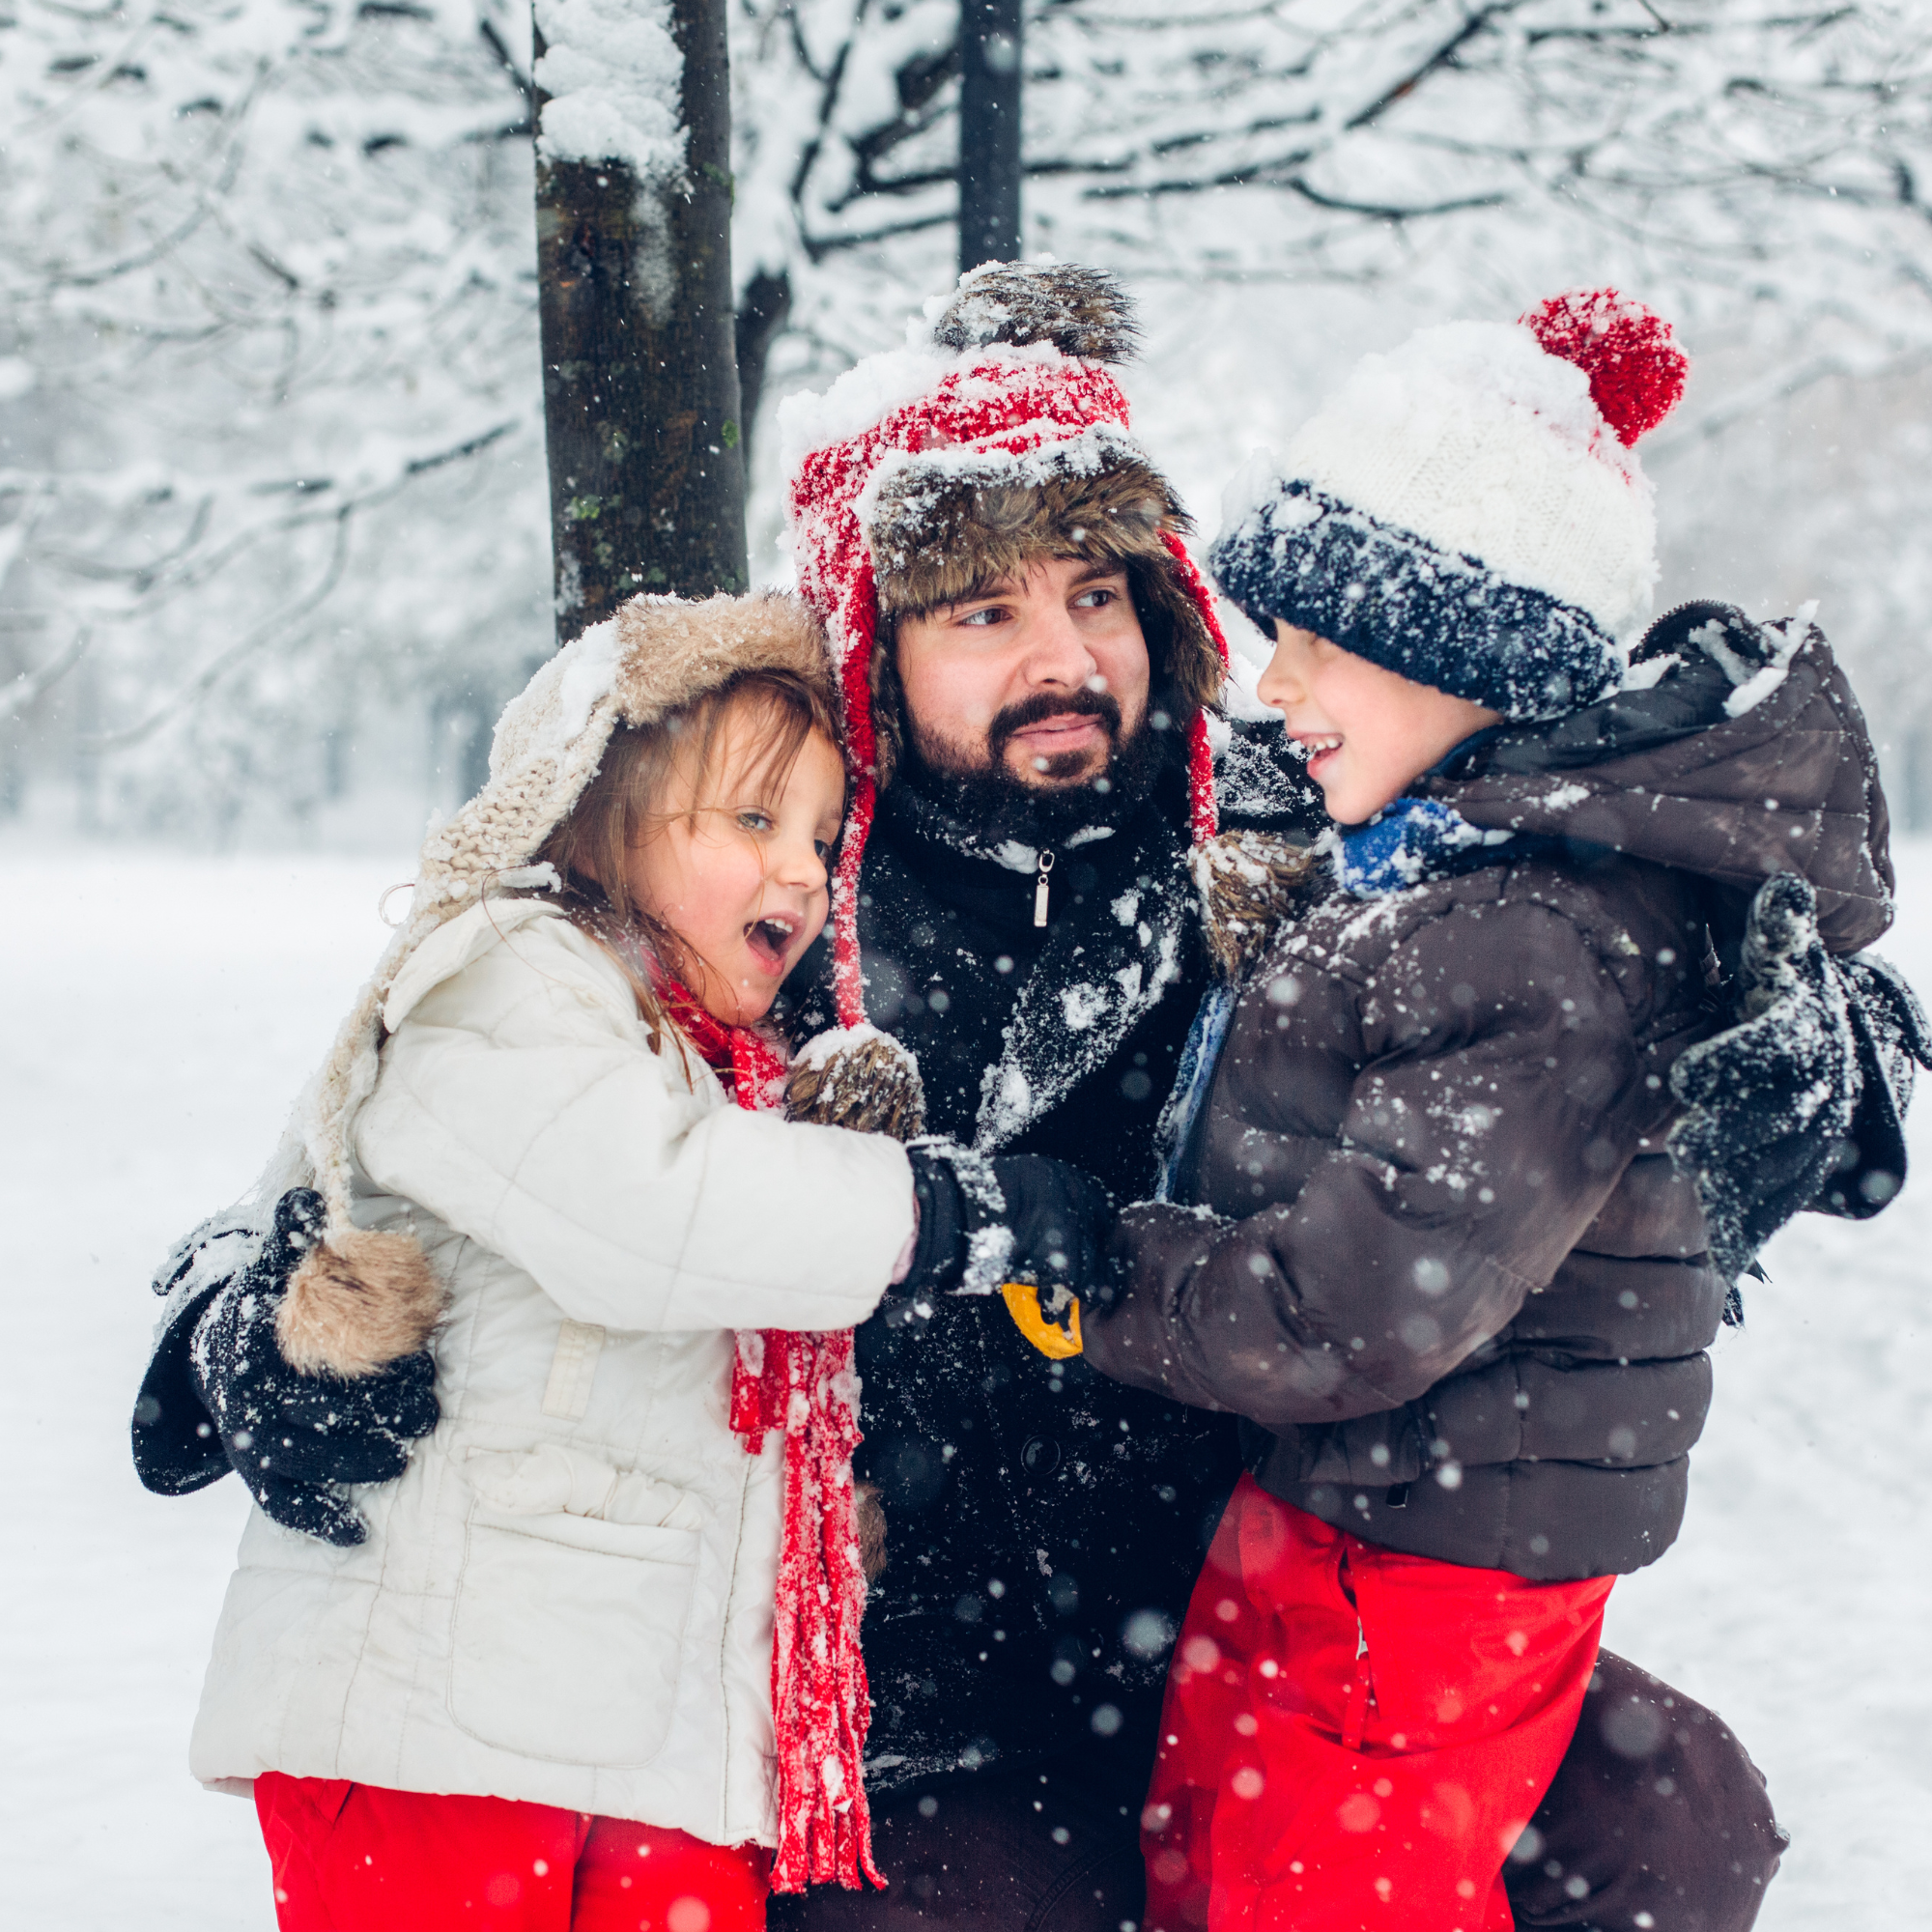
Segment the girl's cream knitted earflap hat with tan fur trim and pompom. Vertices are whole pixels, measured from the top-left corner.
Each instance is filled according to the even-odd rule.
[[[303,1260],[278,1316],[282,1352],[298,1368],[367,1374],[423,1347],[440,1308],[440,1287],[412,1236],[350,1221],[355,1115],[375,1092],[383,1009],[404,966],[485,895],[562,885],[535,856],[597,775],[620,724],[655,724],[748,670],[790,670],[831,699],[825,632],[796,597],[634,597],[547,659],[504,707],[489,782],[423,840],[410,914],[298,1101],[290,1140],[263,1180],[270,1198],[313,1186],[328,1211],[323,1244]],[[369,1347],[371,1314],[381,1308],[394,1320],[373,1331],[379,1341]]]

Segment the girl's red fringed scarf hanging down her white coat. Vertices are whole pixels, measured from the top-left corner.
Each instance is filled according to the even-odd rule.
[[[657,987],[668,1014],[730,1076],[740,1107],[784,1105],[784,1057],[759,1034],[724,1026],[670,980]],[[852,1509],[852,1451],[860,1445],[852,1331],[744,1329],[730,1381],[730,1426],[757,1455],[765,1430],[784,1435],[784,1542],[771,1638],[771,1718],[779,1743],[779,1853],[773,1891],[860,1878],[883,1886],[871,1862],[866,1731],[871,1692],[858,1625],[866,1571]]]

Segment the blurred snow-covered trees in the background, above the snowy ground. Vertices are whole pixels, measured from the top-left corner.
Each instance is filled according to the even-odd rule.
[[[728,17],[773,582],[777,400],[954,272],[960,27]],[[1665,601],[1816,599],[1932,815],[1920,8],[1047,0],[1016,58],[1024,245],[1140,298],[1204,535],[1362,346],[1615,280],[1694,355],[1648,454]],[[551,647],[535,99],[498,0],[6,0],[0,811],[332,842],[468,794]]]

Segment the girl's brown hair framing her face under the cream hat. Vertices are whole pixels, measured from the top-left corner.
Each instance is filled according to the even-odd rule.
[[[742,670],[653,724],[620,724],[597,777],[535,854],[535,864],[556,867],[558,896],[572,923],[624,968],[653,1049],[659,1049],[665,1010],[649,980],[626,958],[630,949],[622,941],[634,939],[668,972],[682,976],[686,968],[678,937],[632,898],[630,856],[676,817],[667,802],[680,775],[694,779],[690,817],[709,808],[703,786],[713,755],[726,724],[740,717],[763,738],[750,773],[761,804],[777,802],[813,732],[840,744],[825,688],[792,670]]]

